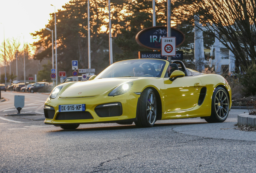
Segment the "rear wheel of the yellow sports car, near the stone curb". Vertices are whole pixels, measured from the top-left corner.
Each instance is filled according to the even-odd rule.
[[[212,111],[209,118],[205,118],[208,123],[222,123],[227,119],[229,114],[229,97],[227,92],[217,87],[213,93]]]

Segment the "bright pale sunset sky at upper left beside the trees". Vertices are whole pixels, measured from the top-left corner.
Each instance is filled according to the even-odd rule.
[[[0,0],[0,44],[4,42],[4,34],[5,39],[20,38],[21,47],[23,35],[25,42],[33,43],[35,39],[30,33],[45,28],[50,20],[50,13],[54,12],[54,6],[58,11],[68,2],[69,0]]]

